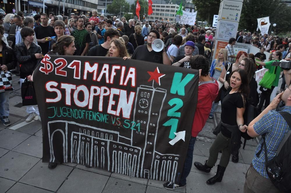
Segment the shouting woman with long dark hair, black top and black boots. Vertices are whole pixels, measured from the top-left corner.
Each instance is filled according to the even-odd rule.
[[[242,144],[240,141],[241,132],[245,132],[247,128],[243,118],[246,99],[249,95],[249,81],[246,71],[243,69],[234,70],[228,83],[230,89],[222,101],[221,122],[214,130],[218,135],[209,149],[209,158],[204,165],[199,162],[194,163],[197,169],[209,173],[217,161],[219,151],[222,151],[217,173],[207,180],[208,185],[222,181],[230,154],[235,155],[239,151]]]

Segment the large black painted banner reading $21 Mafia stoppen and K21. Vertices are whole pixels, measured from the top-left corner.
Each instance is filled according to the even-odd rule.
[[[198,75],[139,60],[46,55],[33,75],[42,161],[179,182]]]

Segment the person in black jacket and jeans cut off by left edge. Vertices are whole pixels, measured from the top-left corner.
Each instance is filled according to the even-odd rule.
[[[1,86],[4,86],[3,81],[5,81],[6,75],[8,75],[12,81],[11,74],[8,70],[11,70],[16,66],[13,49],[10,48],[8,45],[6,45],[4,41],[2,40],[2,35],[4,34],[4,31],[5,31],[4,27],[0,26],[0,85]],[[7,72],[9,72],[9,74]],[[7,80],[10,79],[9,77],[7,78]],[[10,89],[7,89],[6,91],[4,88],[1,88],[0,90],[0,120],[4,126],[9,126],[11,124],[8,119],[9,90]]]

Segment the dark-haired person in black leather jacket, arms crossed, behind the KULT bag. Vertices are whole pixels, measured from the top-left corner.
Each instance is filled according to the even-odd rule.
[[[24,80],[31,80],[31,75],[36,69],[40,60],[42,59],[41,48],[39,45],[33,42],[34,40],[34,31],[31,27],[23,27],[20,31],[20,35],[23,39],[23,42],[20,42],[15,45],[15,56],[20,67],[20,87]],[[38,107],[26,107],[26,112],[29,113],[29,116],[25,120],[30,122],[36,114],[39,115]]]

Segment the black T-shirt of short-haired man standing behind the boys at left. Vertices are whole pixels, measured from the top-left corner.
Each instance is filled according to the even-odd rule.
[[[34,32],[36,33],[36,39],[43,39],[45,37],[52,37],[56,36],[56,33],[54,32],[54,28],[52,26],[44,27],[42,25],[36,26],[34,28]],[[41,47],[41,52],[43,55],[45,55],[49,51],[49,42],[40,43],[38,42],[38,45]]]

